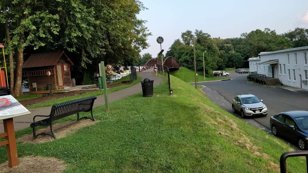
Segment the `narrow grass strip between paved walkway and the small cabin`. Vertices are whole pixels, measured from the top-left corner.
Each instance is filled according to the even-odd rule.
[[[136,85],[141,80],[142,80],[142,78],[137,76],[137,80],[132,82],[131,85],[127,84],[127,85],[122,85],[122,86],[116,86],[116,87],[107,89],[107,93],[123,90],[125,88],[130,87],[130,86]],[[79,95],[74,95],[74,96],[69,96],[69,97],[63,97],[61,99],[52,99],[52,100],[49,100],[47,102],[42,102],[42,103],[37,103],[37,104],[31,105],[31,106],[27,106],[26,108],[30,109],[30,108],[37,108],[37,107],[52,106],[52,105],[55,105],[55,104],[58,104],[58,103],[68,102],[68,101],[71,101],[71,100],[81,99],[81,98],[84,98],[84,97],[99,96],[99,95],[104,95],[102,90],[92,91],[92,92],[89,92],[89,93],[79,94]],[[26,95],[24,95],[24,96],[26,96]],[[30,98],[28,98],[28,99],[30,99]]]

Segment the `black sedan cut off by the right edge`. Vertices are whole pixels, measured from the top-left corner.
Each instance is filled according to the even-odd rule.
[[[296,143],[301,150],[308,149],[308,111],[281,112],[270,117],[275,136],[281,135]]]

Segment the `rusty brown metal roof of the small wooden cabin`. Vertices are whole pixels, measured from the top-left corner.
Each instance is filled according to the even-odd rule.
[[[62,54],[64,54],[67,60],[71,62],[64,51],[31,54],[26,62],[23,63],[22,68],[54,66],[59,61]],[[71,64],[74,65],[73,62],[71,62]]]

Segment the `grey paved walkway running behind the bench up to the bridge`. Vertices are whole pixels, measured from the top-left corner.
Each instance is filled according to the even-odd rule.
[[[154,80],[154,84],[153,84],[154,86],[160,84],[163,81],[163,78],[155,76],[155,73],[152,69],[137,73],[137,75],[142,77],[143,79],[149,78],[150,80]],[[139,92],[142,92],[140,82],[134,86],[125,88],[123,90],[115,91],[112,93],[107,93],[107,95],[108,95],[109,103],[111,103],[111,102],[114,102],[120,99],[124,99],[128,96],[137,94]],[[103,95],[100,95],[100,96],[97,96],[97,99],[95,100],[93,107],[99,107],[103,104],[105,104],[105,98]],[[33,122],[33,117],[35,115],[49,115],[51,111],[51,106],[29,109],[29,111],[31,112],[31,114],[29,115],[23,115],[23,116],[13,118],[15,131],[24,129],[26,127],[30,127],[30,123]],[[0,121],[0,124],[3,124],[2,120]],[[0,125],[0,133],[3,133],[3,132],[4,132],[3,125]]]

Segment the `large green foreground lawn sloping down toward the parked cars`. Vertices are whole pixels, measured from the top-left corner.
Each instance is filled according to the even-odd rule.
[[[170,78],[172,96],[164,77],[153,97],[139,93],[115,101],[108,113],[97,107],[99,123],[49,143],[18,143],[18,156],[62,159],[68,164],[65,173],[278,172],[280,155],[293,148],[229,114],[193,86]],[[27,128],[16,135],[31,132]],[[0,163],[5,161],[6,149],[0,147]],[[289,173],[306,171],[304,158],[287,163]]]

